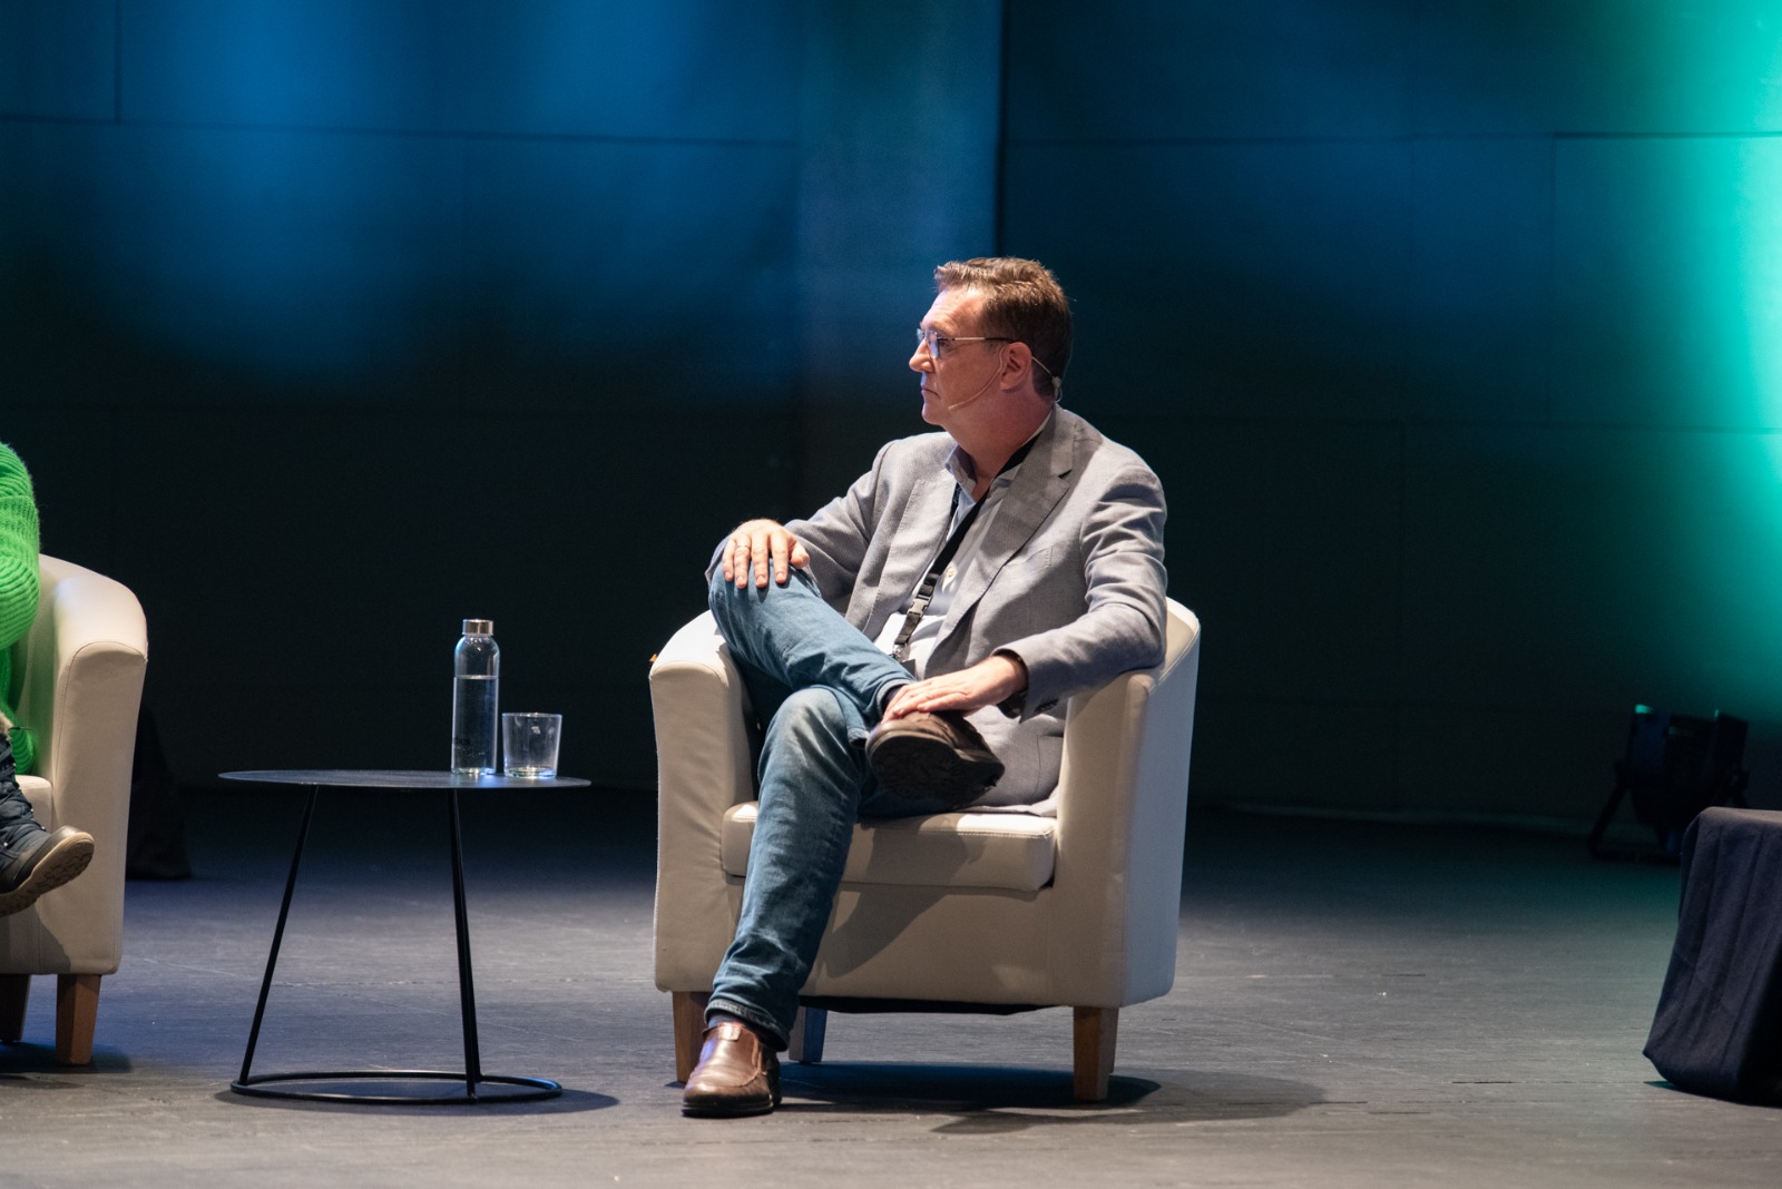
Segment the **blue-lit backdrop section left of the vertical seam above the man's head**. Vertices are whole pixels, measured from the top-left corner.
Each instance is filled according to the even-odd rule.
[[[993,242],[996,9],[854,7],[0,4],[0,438],[141,596],[182,780],[442,765],[486,616],[504,707],[652,781],[811,384],[920,427],[928,269]]]

